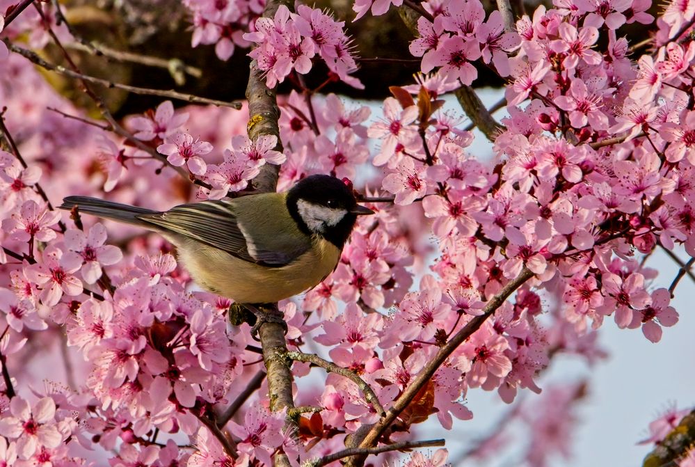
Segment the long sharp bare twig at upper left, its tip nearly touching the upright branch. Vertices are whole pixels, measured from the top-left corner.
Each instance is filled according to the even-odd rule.
[[[35,63],[35,65],[39,65],[41,68],[44,68],[45,70],[56,72],[58,74],[63,74],[64,76],[70,78],[80,79],[81,81],[86,81],[92,84],[100,84],[101,86],[104,86],[106,88],[117,88],[127,90],[129,93],[133,94],[156,95],[159,97],[168,97],[169,99],[190,102],[191,104],[210,104],[216,106],[231,107],[232,109],[237,110],[241,109],[241,102],[239,101],[225,102],[223,100],[208,99],[207,97],[200,97],[193,94],[179,93],[173,89],[163,90],[152,88],[138,88],[138,86],[130,86],[128,84],[109,81],[108,79],[93,77],[88,74],[83,74],[81,72],[69,70],[65,68],[63,65],[54,65],[53,63],[48,63],[43,58],[38,56],[38,54],[35,54],[31,50],[14,45],[6,39],[3,40],[5,41],[8,49],[10,49],[12,52],[15,52],[15,54],[23,56],[27,60],[31,61],[31,63]]]

